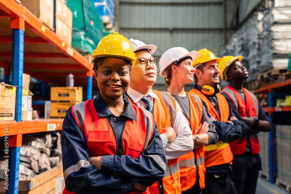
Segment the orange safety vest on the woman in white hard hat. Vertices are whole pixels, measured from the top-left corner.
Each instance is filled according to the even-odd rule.
[[[192,130],[192,134],[196,134],[196,129],[199,128],[199,124],[203,115],[203,104],[200,98],[194,94],[186,92],[190,102],[190,121],[189,126]],[[198,114],[197,114],[198,113]],[[184,154],[179,157],[180,179],[182,191],[187,191],[192,188],[196,183],[196,178],[199,178],[200,188],[205,187],[205,164],[204,164],[204,146],[193,149],[193,151]],[[197,170],[198,168],[198,170]]]

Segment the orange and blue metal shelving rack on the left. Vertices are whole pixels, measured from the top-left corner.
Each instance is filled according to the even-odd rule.
[[[63,120],[21,121],[22,73],[65,86],[65,76],[74,74],[75,86],[87,86],[92,98],[92,64],[15,0],[0,0],[0,67],[11,69],[11,84],[17,86],[15,121],[1,122],[9,131],[9,190],[18,193],[22,134],[61,130]],[[94,87],[97,87],[95,84]]]

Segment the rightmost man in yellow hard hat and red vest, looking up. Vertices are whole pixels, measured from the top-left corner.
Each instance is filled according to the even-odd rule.
[[[249,72],[241,60],[242,56],[224,56],[218,67],[221,79],[229,82],[221,94],[242,125],[242,137],[230,143],[233,152],[232,179],[238,194],[255,194],[259,170],[262,170],[257,133],[270,131],[271,122],[255,95],[242,87]]]

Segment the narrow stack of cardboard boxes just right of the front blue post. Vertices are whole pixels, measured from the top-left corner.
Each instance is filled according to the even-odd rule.
[[[30,75],[22,74],[22,120],[32,120],[32,95],[29,91]]]

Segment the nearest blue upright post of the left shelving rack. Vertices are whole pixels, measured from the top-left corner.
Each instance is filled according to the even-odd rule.
[[[21,122],[23,41],[21,29],[12,29],[12,74],[11,84],[16,88],[15,120]],[[9,147],[9,190],[7,194],[17,194],[19,185],[20,147]]]

